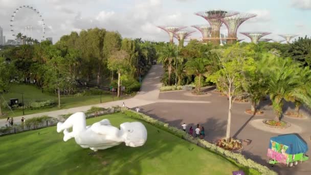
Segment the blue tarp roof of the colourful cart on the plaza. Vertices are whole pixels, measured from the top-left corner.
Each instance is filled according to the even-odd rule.
[[[270,140],[275,141],[279,144],[288,146],[286,153],[290,155],[305,153],[308,150],[308,145],[295,134],[287,134],[287,135],[272,137],[270,138]],[[270,141],[269,143],[270,149],[271,149],[271,145],[272,144]]]

